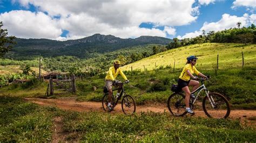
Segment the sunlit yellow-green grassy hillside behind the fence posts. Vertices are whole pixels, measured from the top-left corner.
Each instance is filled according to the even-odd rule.
[[[186,63],[186,57],[189,55],[198,56],[197,68],[206,67],[212,69],[217,66],[217,55],[219,55],[219,69],[226,67],[241,67],[242,54],[244,53],[245,66],[255,66],[256,61],[256,45],[244,44],[219,44],[205,43],[170,49],[148,58],[133,62],[123,67],[124,70],[153,70],[160,66],[171,66],[173,68],[174,60],[175,68],[183,68]]]

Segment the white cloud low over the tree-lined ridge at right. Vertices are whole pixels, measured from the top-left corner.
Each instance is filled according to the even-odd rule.
[[[247,13],[245,13],[242,17],[237,17],[237,16],[230,16],[228,14],[224,14],[222,18],[218,22],[213,22],[213,23],[207,23],[205,22],[203,27],[200,28],[200,31],[195,31],[191,33],[186,33],[183,36],[178,36],[179,39],[184,39],[184,38],[193,38],[197,37],[198,35],[202,34],[202,30],[205,30],[205,32],[209,31],[221,31],[229,28],[234,28],[237,27],[237,23],[240,22],[241,26],[240,27],[247,27],[251,25],[252,23],[255,24],[256,22],[256,15],[253,14],[249,16]]]

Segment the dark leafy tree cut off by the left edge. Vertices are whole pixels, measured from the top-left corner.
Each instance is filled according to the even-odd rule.
[[[0,58],[5,55],[16,42],[14,41],[15,37],[7,37],[8,32],[6,29],[2,29],[3,22],[0,22]]]

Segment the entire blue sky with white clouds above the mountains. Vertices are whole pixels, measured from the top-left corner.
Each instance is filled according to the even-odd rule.
[[[100,33],[183,39],[238,22],[255,24],[255,9],[253,0],[0,0],[0,21],[19,38],[68,40]]]

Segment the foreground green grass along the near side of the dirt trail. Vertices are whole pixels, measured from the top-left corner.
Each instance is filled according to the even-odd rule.
[[[0,96],[0,142],[52,141],[60,117],[66,141],[85,142],[255,142],[256,128],[240,120],[173,117],[169,112],[132,116],[63,111]],[[252,119],[253,120],[253,119]]]

